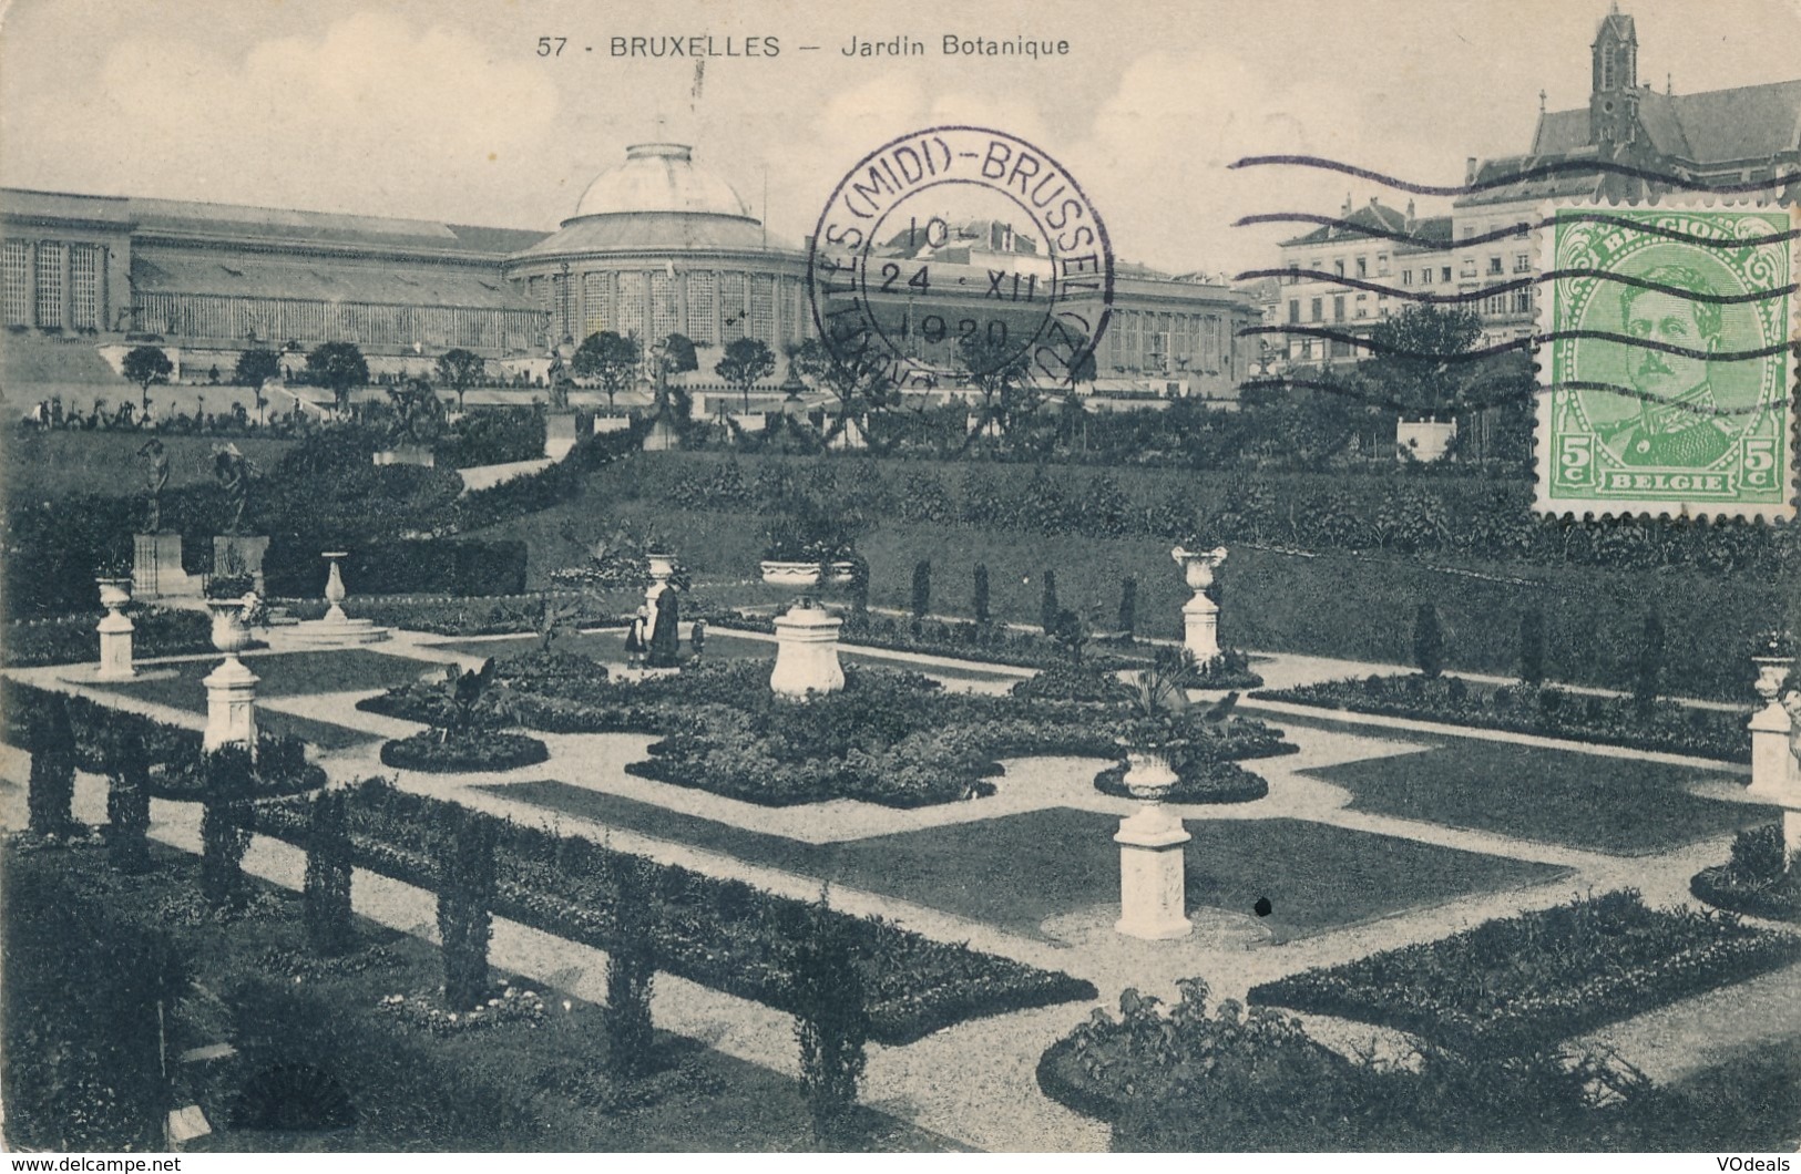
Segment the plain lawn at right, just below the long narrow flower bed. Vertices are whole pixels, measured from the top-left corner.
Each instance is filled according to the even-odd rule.
[[[1356,810],[1625,855],[1668,852],[1770,819],[1767,807],[1688,794],[1688,785],[1713,778],[1693,767],[1507,742],[1430,740],[1432,749],[1414,754],[1309,774],[1351,790]]]

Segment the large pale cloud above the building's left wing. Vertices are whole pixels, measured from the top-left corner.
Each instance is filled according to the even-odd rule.
[[[90,189],[200,187],[211,200],[364,212],[416,207],[425,189],[447,218],[492,216],[558,112],[529,63],[373,13],[234,58],[133,36],[106,54],[97,83],[94,101],[47,110],[83,144],[88,173],[110,180]]]

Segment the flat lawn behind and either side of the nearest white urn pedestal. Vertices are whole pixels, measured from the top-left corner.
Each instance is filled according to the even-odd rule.
[[[807,844],[562,781],[484,790],[1027,936],[1045,936],[1046,920],[1117,902],[1118,893],[1118,819],[1099,812],[1052,808]],[[1279,942],[1565,873],[1300,819],[1190,819],[1187,828],[1189,908],[1252,913],[1266,897]]]

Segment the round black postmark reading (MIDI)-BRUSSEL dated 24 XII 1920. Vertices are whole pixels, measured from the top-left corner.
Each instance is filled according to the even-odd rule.
[[[807,248],[819,337],[899,385],[971,364],[1041,387],[1091,369],[1113,306],[1106,223],[1063,164],[980,126],[884,142],[832,189]]]

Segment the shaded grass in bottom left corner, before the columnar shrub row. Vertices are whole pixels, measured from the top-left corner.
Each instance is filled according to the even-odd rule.
[[[40,1080],[63,1080],[61,1095],[49,1086],[5,1089],[13,1109],[7,1140],[14,1145],[61,1147],[58,1140],[72,1127],[86,1129],[76,1134],[86,1142],[81,1149],[117,1147],[128,1138],[108,1138],[104,1129],[95,1136],[95,1125],[130,1124],[121,1120],[117,1102],[108,1102],[104,1084],[131,1080],[133,1073],[115,1062],[103,1066],[99,1088],[79,1080],[79,1048],[94,1041],[77,1008],[83,998],[99,998],[99,1010],[108,1010],[112,974],[83,983],[99,996],[65,992],[58,1003],[41,992],[59,971],[83,962],[83,951],[97,947],[90,933],[131,926],[167,929],[193,969],[195,992],[169,1008],[171,1048],[218,1041],[238,1048],[236,1057],[178,1070],[176,1104],[198,1102],[216,1129],[195,1143],[198,1151],[812,1147],[792,1080],[666,1034],[657,1039],[665,1071],[647,1086],[656,1088],[648,1104],[629,1111],[598,1104],[594,1095],[609,1088],[600,1008],[531,980],[508,978],[517,989],[548,996],[540,1026],[513,1021],[448,1035],[411,1026],[385,1012],[382,1001],[396,992],[436,998],[430,992],[443,981],[438,951],[358,922],[357,949],[339,962],[321,962],[304,945],[294,893],[252,882],[252,909],[227,920],[200,909],[198,862],[173,850],[153,848],[157,868],[144,877],[110,871],[94,846],[29,855],[9,848],[5,855],[9,891],[36,897],[7,918],[7,989],[40,994],[29,1003],[7,1001],[7,1041],[14,1044],[9,1071],[23,1071],[29,1062]],[[72,926],[86,933],[70,933]],[[20,1048],[31,1052],[22,1057]],[[148,1059],[155,1064],[155,1030]],[[256,1091],[277,1095],[283,1116],[304,1115],[310,1097],[324,1104],[344,1098],[355,1124],[333,1131],[234,1129],[256,1111]],[[857,1125],[870,1147],[949,1147],[944,1138],[870,1109],[859,1111]]]

